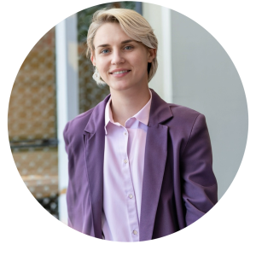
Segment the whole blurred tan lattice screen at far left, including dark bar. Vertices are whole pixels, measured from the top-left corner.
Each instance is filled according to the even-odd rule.
[[[55,28],[38,41],[20,67],[10,96],[8,125],[20,176],[32,195],[57,217]]]

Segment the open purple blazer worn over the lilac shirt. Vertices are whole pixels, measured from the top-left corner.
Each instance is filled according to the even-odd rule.
[[[166,103],[150,90],[140,241],[182,230],[218,201],[205,116]],[[108,99],[69,121],[63,133],[68,154],[68,225],[101,239],[104,114]]]

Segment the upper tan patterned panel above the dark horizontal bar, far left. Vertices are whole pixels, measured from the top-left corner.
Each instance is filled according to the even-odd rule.
[[[10,96],[8,123],[10,141],[56,137],[54,28],[20,67]]]

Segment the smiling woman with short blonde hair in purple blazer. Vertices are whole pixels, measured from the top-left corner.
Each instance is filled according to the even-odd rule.
[[[63,131],[68,225],[110,241],[182,230],[218,201],[205,116],[148,88],[158,41],[136,11],[96,11],[87,47],[110,95]]]

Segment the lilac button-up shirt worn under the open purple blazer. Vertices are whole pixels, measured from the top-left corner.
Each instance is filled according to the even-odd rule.
[[[106,240],[139,241],[143,169],[152,99],[125,126],[105,108],[102,231]]]

